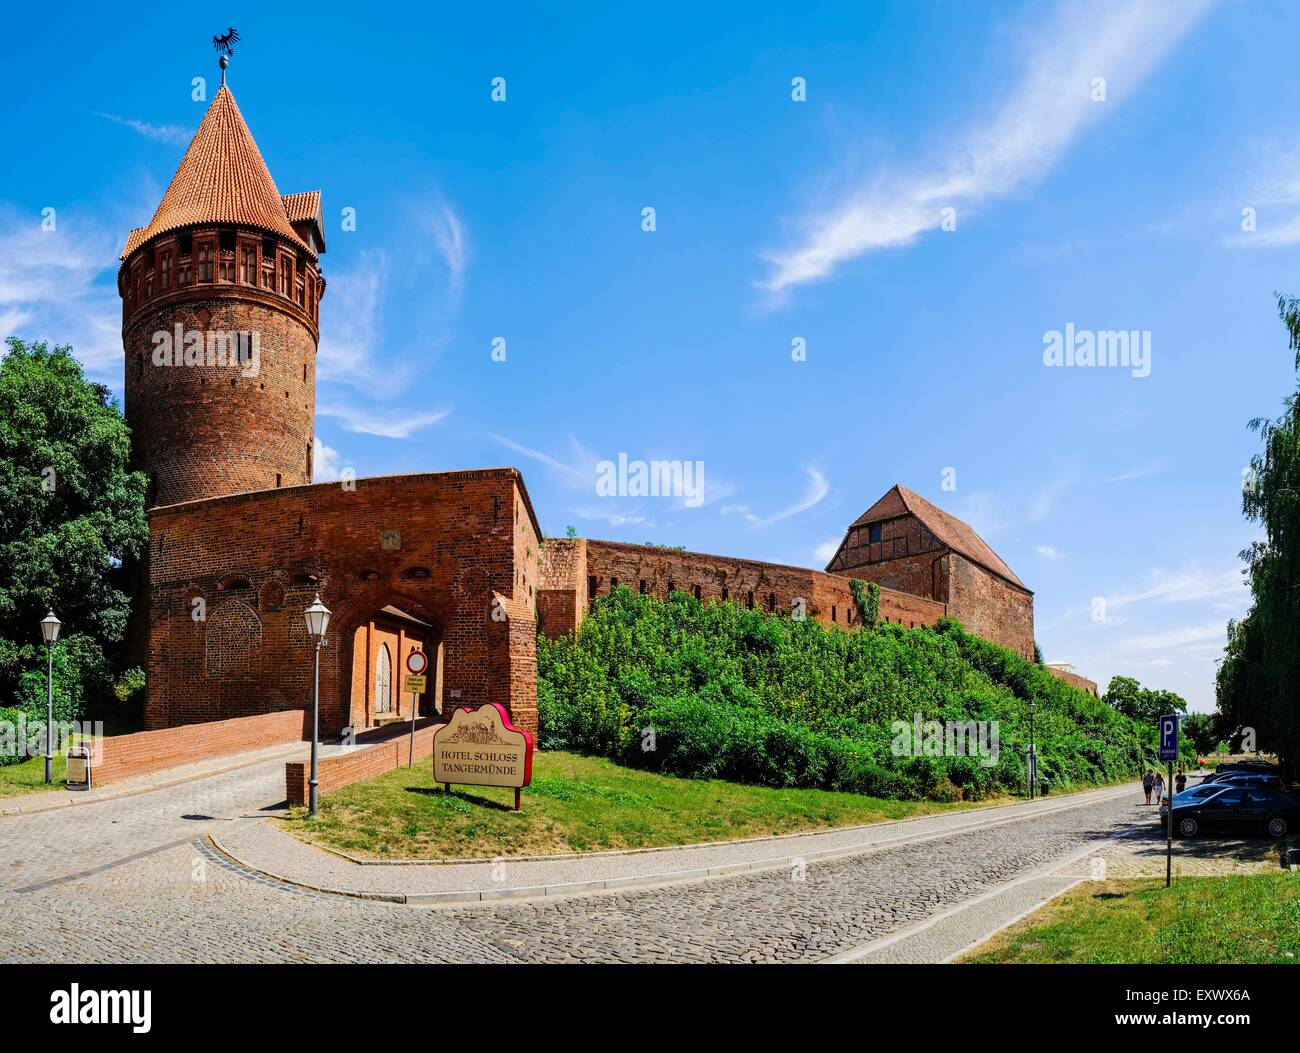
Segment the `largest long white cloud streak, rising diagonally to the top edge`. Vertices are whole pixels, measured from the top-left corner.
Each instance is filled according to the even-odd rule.
[[[1114,110],[1160,64],[1212,0],[1063,4],[1037,29],[1020,79],[984,122],[952,136],[932,168],[878,172],[837,204],[814,211],[802,235],[764,255],[770,292],[828,278],[846,260],[911,244],[944,208],[971,209],[1041,179],[1089,124]],[[1104,77],[1106,101],[1092,99]]]

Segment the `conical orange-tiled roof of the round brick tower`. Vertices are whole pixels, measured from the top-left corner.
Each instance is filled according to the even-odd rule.
[[[276,181],[266,170],[235,96],[225,84],[203,116],[153,220],[143,231],[131,231],[122,259],[157,234],[212,222],[259,228],[316,255],[290,226],[286,203],[276,190]]]

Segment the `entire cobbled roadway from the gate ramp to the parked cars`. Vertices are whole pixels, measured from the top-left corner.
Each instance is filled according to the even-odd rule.
[[[1124,797],[786,870],[430,909],[294,890],[204,849],[283,797],[283,762],[0,818],[0,961],[816,961],[1113,836]]]

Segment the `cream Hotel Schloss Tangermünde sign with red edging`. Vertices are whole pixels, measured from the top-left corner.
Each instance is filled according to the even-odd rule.
[[[510,723],[504,706],[459,708],[433,733],[433,777],[446,786],[514,786],[533,780],[533,737]]]

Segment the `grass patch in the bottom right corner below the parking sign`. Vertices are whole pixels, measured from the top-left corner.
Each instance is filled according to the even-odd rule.
[[[1300,963],[1300,875],[1086,881],[962,961]]]

